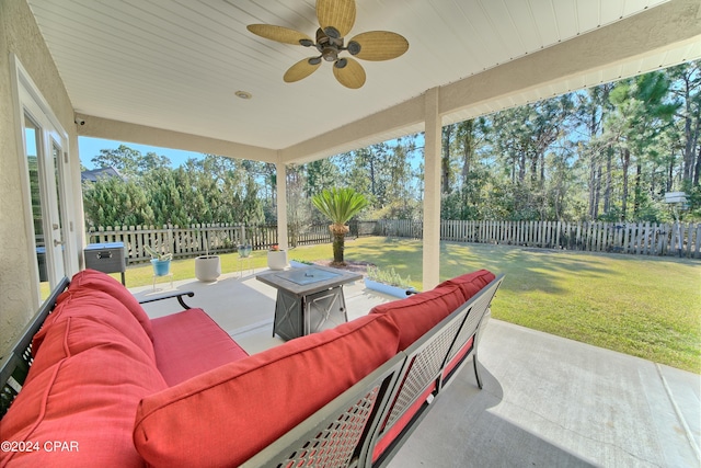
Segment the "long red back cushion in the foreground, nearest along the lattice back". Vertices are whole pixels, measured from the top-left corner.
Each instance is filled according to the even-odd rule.
[[[238,466],[397,354],[366,316],[143,398],[134,441],[152,466]]]

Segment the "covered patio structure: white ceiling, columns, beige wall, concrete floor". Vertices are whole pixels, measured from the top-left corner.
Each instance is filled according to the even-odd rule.
[[[394,31],[409,52],[364,62],[359,90],[329,69],[284,83],[307,52],[245,26],[313,34],[313,3],[0,1],[0,350],[41,303],[37,222],[51,285],[84,266],[79,136],[275,164],[285,248],[287,165],[424,132],[429,289],[440,272],[443,125],[701,58],[698,0],[358,0],[353,33]],[[44,145],[35,155],[46,183],[38,218],[27,128]],[[273,309],[275,292],[255,278],[175,287],[195,289],[193,306],[250,353],[279,343],[272,315],[231,311],[233,296],[248,310]],[[387,300],[359,284],[346,290],[350,317]],[[148,311],[165,313],[160,307]],[[496,320],[480,356],[484,390],[461,373],[393,466],[673,467],[701,458],[698,376]]]

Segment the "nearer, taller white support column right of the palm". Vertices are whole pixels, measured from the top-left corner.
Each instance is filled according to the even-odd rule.
[[[424,150],[424,253],[423,289],[440,283],[440,135],[438,113],[439,89],[426,91],[425,150]]]

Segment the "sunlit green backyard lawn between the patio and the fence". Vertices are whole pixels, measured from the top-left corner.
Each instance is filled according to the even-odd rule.
[[[266,252],[254,252],[256,267]],[[294,249],[295,260],[331,259],[331,244]],[[381,237],[346,241],[346,260],[411,275],[422,288],[422,243]],[[221,255],[238,271],[238,255]],[[701,261],[444,242],[440,277],[479,269],[505,273],[494,318],[701,374]],[[151,266],[129,267],[127,286],[150,284]],[[194,260],[173,263],[194,277]],[[118,277],[118,275],[115,275]]]

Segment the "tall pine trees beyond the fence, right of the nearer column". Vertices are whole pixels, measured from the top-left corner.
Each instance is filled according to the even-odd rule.
[[[698,61],[443,129],[446,219],[701,218]]]

